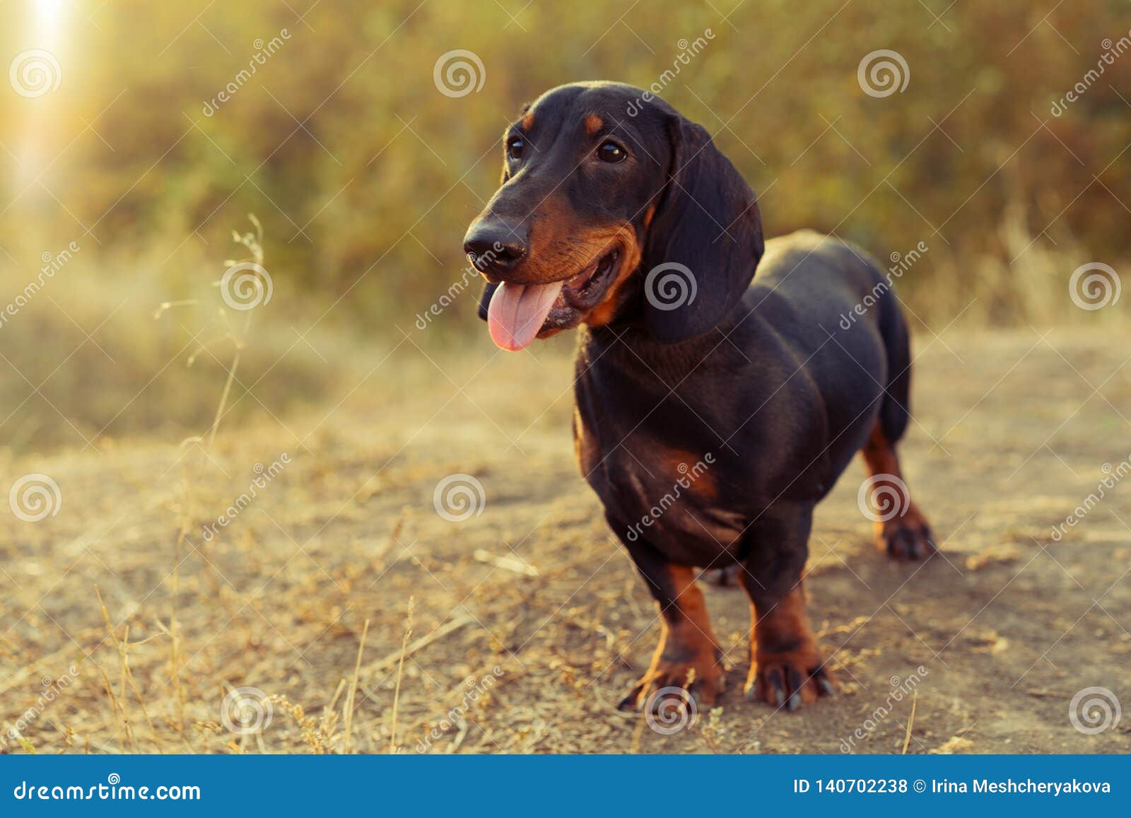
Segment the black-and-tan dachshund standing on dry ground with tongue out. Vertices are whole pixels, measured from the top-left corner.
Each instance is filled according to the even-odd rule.
[[[697,567],[736,574],[750,597],[748,698],[795,711],[832,695],[802,575],[813,508],[856,451],[891,501],[873,517],[880,548],[935,551],[896,457],[910,354],[883,270],[810,231],[763,242],[753,191],[707,131],[614,83],[526,106],[464,250],[498,346],[579,329],[578,464],[662,621],[621,707],[723,691]]]

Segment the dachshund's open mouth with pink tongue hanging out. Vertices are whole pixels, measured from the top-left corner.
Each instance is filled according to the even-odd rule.
[[[536,337],[572,329],[605,298],[616,279],[620,259],[618,247],[569,278],[549,284],[500,284],[487,309],[492,341],[517,352]]]

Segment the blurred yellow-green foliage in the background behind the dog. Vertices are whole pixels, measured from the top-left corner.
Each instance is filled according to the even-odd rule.
[[[573,80],[649,86],[708,28],[663,96],[716,134],[768,234],[812,226],[880,258],[925,242],[900,294],[929,325],[1093,319],[1067,298],[1069,274],[1126,256],[1131,54],[1051,113],[1105,40],[1131,36],[1121,0],[116,0],[61,3],[44,21],[50,8],[0,6],[5,64],[48,48],[61,70],[36,98],[0,87],[0,301],[77,241],[83,283],[52,299],[70,317],[88,308],[85,331],[120,309],[104,331],[152,345],[154,369],[185,338],[154,328],[153,308],[215,302],[249,212],[266,227],[273,309],[297,330],[414,331],[460,278],[461,236],[519,106]],[[484,76],[452,97],[433,68],[457,49]],[[904,92],[862,91],[857,68],[879,49],[906,60]],[[473,301],[428,339],[477,329]],[[49,312],[43,326],[74,334]],[[14,362],[27,339],[15,326],[0,329]]]

